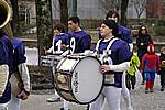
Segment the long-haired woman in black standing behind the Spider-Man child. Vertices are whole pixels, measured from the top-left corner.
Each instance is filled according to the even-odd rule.
[[[150,34],[147,33],[146,26],[142,25],[139,30],[139,34],[136,37],[136,45],[138,45],[138,56],[140,58],[140,62],[142,62],[142,57],[144,56],[144,54],[147,53],[147,46],[148,44],[153,44],[153,41],[150,36]],[[145,78],[144,78],[144,73],[142,74],[142,85],[144,85],[145,82]]]

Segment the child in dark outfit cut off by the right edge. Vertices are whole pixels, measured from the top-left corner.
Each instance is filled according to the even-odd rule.
[[[165,89],[165,46],[161,48],[161,70],[158,72],[158,75],[161,76],[161,91],[164,91]]]

